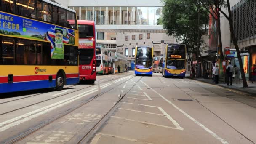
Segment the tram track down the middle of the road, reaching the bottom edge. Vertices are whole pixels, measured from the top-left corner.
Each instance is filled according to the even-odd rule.
[[[129,76],[129,75],[126,75],[126,77],[127,77],[127,76]],[[129,78],[128,80],[131,80],[131,79],[133,79],[134,77],[136,77],[136,76],[133,76],[133,77]],[[118,77],[118,78],[120,78],[120,77]],[[116,78],[116,79],[118,79],[118,78]],[[141,77],[141,78],[142,78],[142,77]],[[141,80],[141,78],[137,81],[137,83]],[[119,85],[122,85],[123,83],[127,82],[128,80],[125,80],[124,82],[120,83]],[[136,84],[134,84],[134,85],[136,85]],[[133,85],[133,87],[134,87],[134,85]],[[132,87],[132,88],[133,88],[133,87]],[[34,128],[30,128],[28,131],[19,134],[19,136],[17,136],[17,137],[15,137],[15,138],[11,139],[10,141],[6,142],[5,144],[13,144],[13,143],[16,143],[16,142],[21,141],[22,139],[24,139],[24,138],[26,138],[27,136],[29,136],[29,135],[35,133],[36,131],[40,130],[41,128],[46,127],[47,125],[53,123],[54,121],[60,119],[61,117],[64,117],[64,116],[68,115],[69,113],[75,111],[76,109],[79,109],[80,107],[85,106],[86,104],[90,103],[90,102],[93,101],[94,99],[96,99],[96,98],[98,98],[98,97],[100,97],[100,96],[103,96],[105,93],[107,93],[107,92],[113,90],[114,88],[116,88],[116,87],[109,88],[107,91],[104,91],[104,92],[102,92],[102,93],[100,93],[100,94],[98,93],[98,94],[96,94],[96,95],[90,96],[87,101],[82,102],[82,103],[79,104],[77,107],[73,107],[73,108],[67,110],[66,112],[63,112],[63,113],[61,113],[60,115],[58,115],[58,116],[56,116],[56,117],[54,117],[54,118],[52,118],[52,119],[46,121],[45,123],[40,123],[40,125],[37,125],[37,126],[34,127]],[[129,91],[130,91],[132,88],[130,88]],[[126,93],[128,93],[129,91],[127,91]],[[126,93],[123,95],[123,97],[126,95]],[[123,97],[120,98],[120,99],[115,103],[115,105],[107,112],[106,115],[104,115],[104,116],[99,120],[99,122],[96,123],[96,125],[93,126],[93,128],[95,128],[95,127],[104,119],[104,117],[106,117],[106,116],[109,114],[109,112],[111,112],[111,110],[112,110],[117,104],[120,103],[120,101],[123,99]],[[93,130],[93,128],[91,128],[90,131],[88,131],[88,133],[86,133],[85,136],[83,136],[83,138],[82,138],[80,141],[82,141],[82,140]],[[79,141],[79,143],[80,143],[80,141]]]

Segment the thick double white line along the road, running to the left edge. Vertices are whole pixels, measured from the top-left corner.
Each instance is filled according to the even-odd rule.
[[[131,77],[131,76],[129,76],[129,77]],[[117,82],[119,82],[119,81],[121,81],[121,80],[124,80],[124,79],[126,79],[126,78],[128,78],[128,77],[123,77],[123,78],[121,78],[121,79],[119,79],[119,80],[116,80],[114,83],[117,83]],[[101,89],[102,89],[102,88],[106,88],[106,87],[108,87],[108,86],[110,86],[110,85],[112,85],[112,83],[107,83],[107,84],[105,84],[105,85],[102,85],[102,86],[101,86]],[[19,124],[21,124],[21,123],[27,122],[28,120],[31,120],[31,119],[33,119],[33,118],[35,118],[35,117],[38,117],[38,116],[40,116],[40,115],[43,115],[43,114],[45,114],[45,113],[47,113],[47,112],[50,112],[50,111],[52,111],[52,110],[54,110],[54,109],[56,109],[56,108],[58,108],[58,107],[62,107],[62,106],[64,106],[64,105],[66,105],[66,104],[71,103],[72,101],[75,101],[75,100],[77,100],[77,99],[80,99],[80,98],[82,98],[82,97],[84,97],[84,96],[87,96],[87,95],[89,95],[89,94],[95,93],[95,92],[97,92],[97,91],[98,91],[98,88],[92,88],[92,89],[89,90],[89,91],[85,91],[85,92],[83,92],[83,93],[77,94],[77,95],[72,96],[72,97],[70,97],[70,98],[68,98],[68,99],[64,99],[64,100],[59,101],[59,102],[56,102],[56,103],[54,103],[54,104],[51,104],[51,105],[42,107],[42,108],[40,108],[40,109],[36,109],[36,110],[34,110],[34,111],[32,111],[32,112],[28,112],[28,113],[26,113],[26,114],[24,114],[24,115],[21,115],[21,116],[18,116],[18,117],[14,117],[14,118],[12,118],[12,119],[10,119],[10,120],[6,120],[6,121],[0,123],[0,126],[3,126],[2,128],[0,128],[0,132],[5,131],[5,130],[7,130],[7,129],[13,127],[13,126],[19,125]],[[13,122],[14,122],[14,123],[13,123]],[[8,125],[6,125],[6,124],[8,124]],[[5,126],[4,126],[4,125],[5,125]]]

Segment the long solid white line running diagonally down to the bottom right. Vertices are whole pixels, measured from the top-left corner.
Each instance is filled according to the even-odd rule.
[[[141,81],[141,83],[144,83],[143,81]],[[179,83],[179,82],[177,82]],[[192,120],[193,122],[195,122],[197,125],[199,125],[201,128],[203,128],[205,131],[207,131],[208,133],[210,133],[214,138],[218,139],[222,144],[229,144],[227,141],[225,141],[224,139],[222,139],[220,136],[218,136],[216,133],[214,133],[213,131],[211,131],[210,129],[208,129],[207,127],[205,127],[202,123],[198,122],[197,120],[195,120],[193,117],[191,117],[190,115],[188,115],[186,112],[184,112],[182,109],[180,109],[179,107],[177,107],[175,104],[173,104],[171,101],[169,101],[168,99],[166,99],[164,96],[162,96],[160,93],[158,93],[157,91],[155,91],[154,89],[152,89],[151,87],[149,87],[146,83],[144,83],[144,85],[146,85],[148,88],[150,88],[152,91],[154,91],[155,93],[157,93],[162,99],[164,99],[166,102],[168,102],[169,104],[171,104],[173,107],[175,107],[177,110],[179,110],[183,115],[185,115],[186,117],[188,117],[190,120]]]

